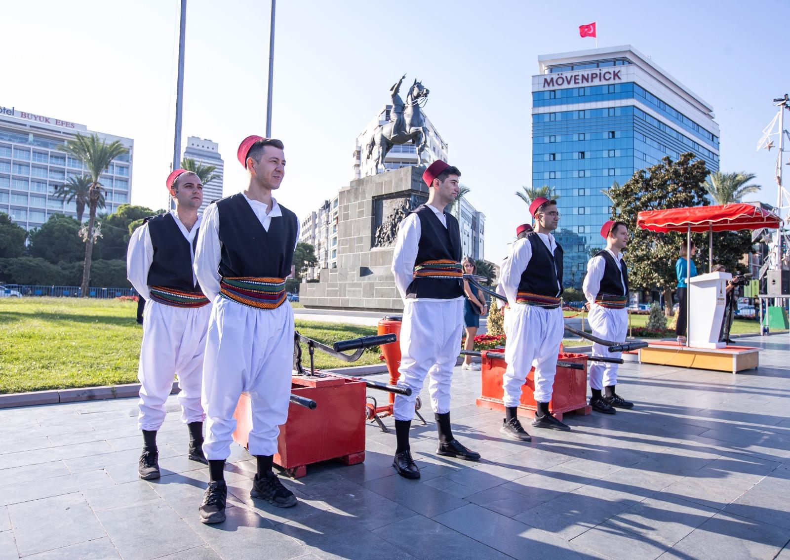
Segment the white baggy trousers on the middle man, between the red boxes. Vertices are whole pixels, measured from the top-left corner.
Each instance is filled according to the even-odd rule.
[[[447,301],[406,300],[401,324],[401,377],[397,384],[412,389],[412,396],[395,395],[396,420],[414,417],[414,401],[431,375],[431,407],[437,414],[450,412],[450,382],[461,353],[464,299]]]

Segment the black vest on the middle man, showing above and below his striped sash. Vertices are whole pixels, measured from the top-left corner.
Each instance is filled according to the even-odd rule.
[[[420,228],[415,266],[439,259],[461,261],[461,228],[458,227],[458,220],[445,212],[447,227],[444,227],[427,205],[419,205],[414,213]],[[463,282],[454,278],[415,278],[406,288],[406,299],[456,299],[461,295],[464,295]]]

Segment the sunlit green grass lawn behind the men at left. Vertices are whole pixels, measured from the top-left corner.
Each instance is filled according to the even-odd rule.
[[[0,299],[0,393],[137,382],[142,328],[137,303],[115,299]],[[324,343],[376,333],[375,327],[296,321]],[[303,363],[309,367],[306,345]],[[378,348],[345,363],[321,351],[320,368],[379,363]]]

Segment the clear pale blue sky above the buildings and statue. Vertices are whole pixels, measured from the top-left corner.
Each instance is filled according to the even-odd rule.
[[[189,0],[183,135],[220,143],[225,193],[243,189],[239,141],[265,131],[269,2]],[[631,44],[711,103],[723,171],[752,171],[776,201],[776,151],[755,152],[790,92],[781,41],[785,2],[277,3],[273,136],[288,167],[278,200],[300,217],[352,176],[356,135],[408,73],[431,89],[427,115],[487,215],[485,256],[498,262],[529,185],[530,84],[537,57]],[[179,5],[6,2],[0,105],[134,138],[132,202],[164,206],[173,151]],[[788,167],[790,170],[790,167]]]

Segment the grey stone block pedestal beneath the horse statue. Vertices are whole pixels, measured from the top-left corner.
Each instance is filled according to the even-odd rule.
[[[337,269],[322,269],[320,282],[299,287],[299,301],[304,306],[403,310],[390,271],[393,226],[403,215],[406,205],[416,208],[427,201],[428,188],[422,179],[423,171],[422,167],[401,167],[355,179],[340,190]],[[382,241],[382,238],[387,239]]]

